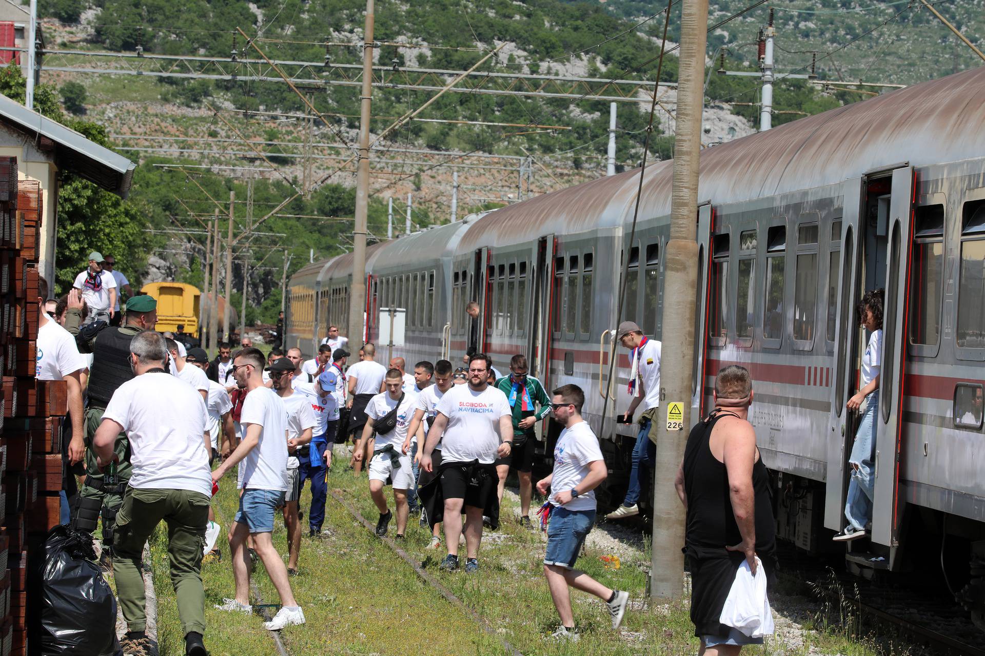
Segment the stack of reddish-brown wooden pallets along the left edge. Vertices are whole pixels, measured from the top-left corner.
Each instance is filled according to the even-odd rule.
[[[15,157],[0,157],[0,221],[0,656],[24,656],[28,620],[39,612],[29,567],[59,517],[68,390],[34,378],[41,190],[18,181]]]

